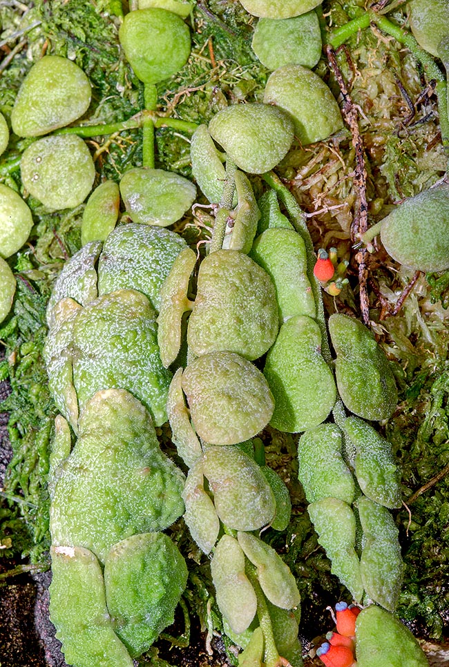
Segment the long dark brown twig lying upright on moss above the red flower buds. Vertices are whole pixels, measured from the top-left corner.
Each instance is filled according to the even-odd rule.
[[[329,66],[334,72],[334,76],[340,87],[341,94],[343,95],[343,106],[342,113],[345,119],[347,126],[350,128],[352,135],[352,146],[356,152],[356,168],[354,173],[354,186],[356,189],[356,211],[354,214],[354,220],[351,225],[351,238],[356,240],[359,234],[363,234],[368,229],[368,204],[366,198],[366,181],[367,181],[367,172],[365,167],[365,148],[363,147],[363,141],[359,129],[359,114],[357,112],[356,106],[353,104],[352,99],[347,91],[347,86],[341,69],[338,66],[336,60],[336,53],[334,49],[327,45],[325,48],[327,59],[329,61]],[[359,294],[360,294],[360,307],[362,313],[362,319],[365,325],[370,322],[370,304],[368,300],[367,293],[367,280],[368,280],[368,269],[366,264],[366,253],[365,248],[361,249],[357,255],[356,260],[359,264]]]

